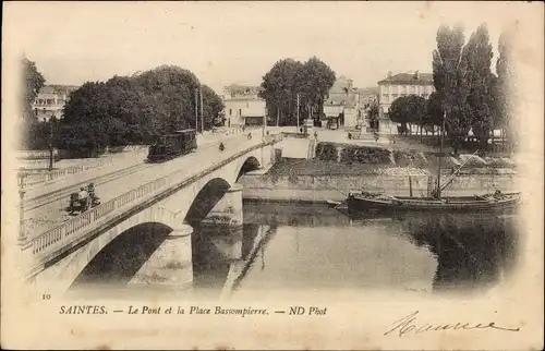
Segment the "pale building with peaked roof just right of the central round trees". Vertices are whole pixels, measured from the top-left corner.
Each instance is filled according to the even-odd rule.
[[[339,126],[355,126],[361,118],[360,95],[353,81],[341,75],[324,100],[324,114],[328,120],[338,118]]]

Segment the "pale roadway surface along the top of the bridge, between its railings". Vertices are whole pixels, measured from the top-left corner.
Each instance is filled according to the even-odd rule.
[[[247,140],[245,135],[237,135],[225,140],[226,150],[220,152],[217,143],[199,147],[196,152],[181,156],[173,160],[162,164],[148,164],[137,172],[130,173],[126,177],[113,179],[107,183],[96,186],[96,193],[101,203],[106,203],[132,189],[167,175],[180,169],[185,169],[187,175],[194,173],[197,169],[213,166],[210,160],[222,160],[239,152],[242,152],[253,145],[262,142],[261,132],[254,131],[254,137]],[[183,173],[185,175],[185,172]],[[183,178],[182,175],[182,178]],[[74,189],[76,191],[76,189]],[[69,205],[69,197],[61,198],[44,206],[25,211],[25,229],[31,237],[35,237],[47,230],[61,225],[63,221],[72,218],[65,210]]]

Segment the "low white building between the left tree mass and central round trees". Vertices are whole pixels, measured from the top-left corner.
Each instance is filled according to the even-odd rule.
[[[259,86],[232,84],[223,88],[227,126],[263,125],[266,105],[258,94]]]

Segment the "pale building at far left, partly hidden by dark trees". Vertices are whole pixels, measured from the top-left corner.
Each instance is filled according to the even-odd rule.
[[[70,93],[77,88],[78,86],[74,85],[44,86],[32,105],[38,121],[47,122],[51,117],[61,119],[63,117],[62,109],[70,98]]]

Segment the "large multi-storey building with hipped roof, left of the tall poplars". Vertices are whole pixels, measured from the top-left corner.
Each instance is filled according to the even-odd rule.
[[[388,72],[385,80],[378,82],[378,119],[379,131],[397,133],[396,123],[389,119],[391,102],[401,96],[419,95],[428,98],[435,92],[433,73],[419,71],[392,75]]]

